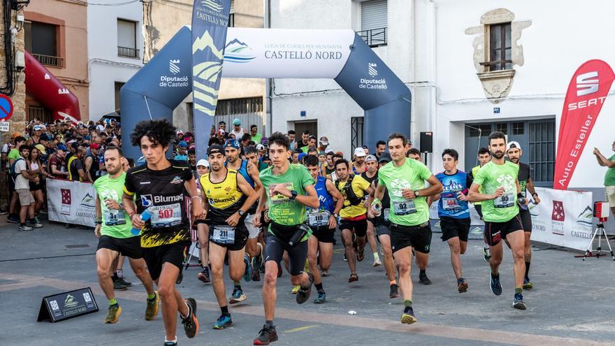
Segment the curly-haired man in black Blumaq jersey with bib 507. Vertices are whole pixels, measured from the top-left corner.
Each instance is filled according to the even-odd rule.
[[[166,331],[165,346],[177,345],[175,329],[180,312],[188,338],[198,333],[196,301],[185,301],[175,287],[182,270],[184,249],[191,245],[185,192],[191,199],[201,199],[196,180],[187,161],[169,161],[165,154],[175,138],[176,128],[166,120],[139,122],[131,144],[138,145],[145,164],[126,173],[122,203],[135,229],[141,230],[143,258],[152,280],[158,286],[162,319]],[[133,198],[136,196],[135,201]],[[192,219],[200,219],[200,201],[192,203]],[[147,215],[151,215],[147,219]],[[145,219],[145,221],[144,221]]]

